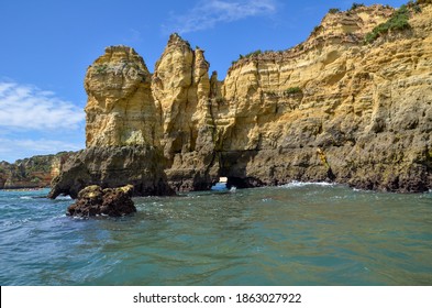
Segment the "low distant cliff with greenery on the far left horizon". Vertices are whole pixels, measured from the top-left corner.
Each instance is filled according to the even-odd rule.
[[[48,187],[71,152],[37,155],[13,164],[0,162],[0,189]]]

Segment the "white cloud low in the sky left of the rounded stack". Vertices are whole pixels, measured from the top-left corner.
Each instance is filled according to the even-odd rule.
[[[7,130],[78,129],[85,113],[52,91],[0,81],[0,128]]]

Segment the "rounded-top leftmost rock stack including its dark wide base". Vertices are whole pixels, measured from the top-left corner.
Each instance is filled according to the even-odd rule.
[[[65,165],[48,197],[128,184],[136,195],[174,194],[164,173],[160,106],[143,58],[131,47],[108,47],[88,68],[85,88],[87,148]]]

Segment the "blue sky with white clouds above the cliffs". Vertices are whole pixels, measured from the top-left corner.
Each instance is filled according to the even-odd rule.
[[[295,46],[330,8],[353,2],[1,0],[0,162],[85,147],[84,77],[107,46],[133,47],[153,73],[177,32],[223,79],[240,54]]]

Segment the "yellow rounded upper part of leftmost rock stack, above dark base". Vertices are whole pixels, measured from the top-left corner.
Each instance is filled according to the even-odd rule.
[[[158,145],[159,117],[151,74],[136,52],[112,46],[88,68],[86,145]]]

